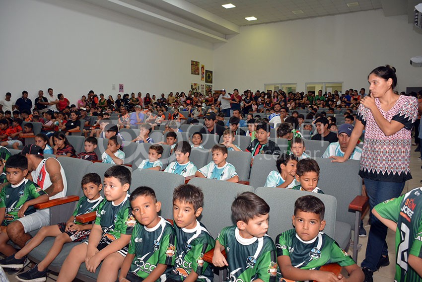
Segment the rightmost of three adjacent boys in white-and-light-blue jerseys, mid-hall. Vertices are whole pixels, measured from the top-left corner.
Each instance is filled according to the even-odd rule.
[[[212,147],[211,152],[212,161],[199,169],[195,173],[195,176],[234,183],[239,182],[239,176],[236,173],[236,169],[232,164],[226,162],[227,148],[223,145],[215,144]]]

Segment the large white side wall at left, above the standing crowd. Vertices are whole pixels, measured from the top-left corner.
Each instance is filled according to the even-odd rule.
[[[0,98],[186,92],[191,60],[213,70],[212,44],[80,0],[0,0]]]

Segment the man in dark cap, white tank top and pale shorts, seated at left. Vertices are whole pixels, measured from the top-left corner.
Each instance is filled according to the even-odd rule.
[[[65,171],[55,158],[43,157],[43,149],[37,145],[26,145],[22,154],[28,159],[28,179],[37,183],[49,195],[50,200],[66,196]],[[7,235],[19,247],[32,238],[28,232],[50,224],[50,210],[44,209],[21,217],[7,226]]]

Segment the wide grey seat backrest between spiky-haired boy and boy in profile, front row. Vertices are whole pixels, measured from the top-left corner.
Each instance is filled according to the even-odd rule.
[[[230,207],[237,194],[253,192],[253,188],[248,185],[208,178],[195,177],[189,181],[189,184],[201,188],[204,193],[204,211],[199,220],[214,238],[221,229],[235,224]]]

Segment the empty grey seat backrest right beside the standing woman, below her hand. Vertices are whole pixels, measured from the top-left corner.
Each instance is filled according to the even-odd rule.
[[[331,162],[329,158],[315,158],[320,174],[318,187],[327,195],[337,198],[337,220],[349,223],[354,229],[354,212],[349,204],[362,194],[362,178],[358,175],[360,162],[348,160],[343,163]]]

